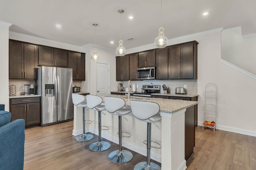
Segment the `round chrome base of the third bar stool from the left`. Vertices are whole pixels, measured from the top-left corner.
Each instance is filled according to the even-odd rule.
[[[123,163],[129,162],[130,160],[132,160],[132,158],[133,158],[133,155],[128,150],[122,150],[122,151],[115,150],[108,155],[108,159],[111,162],[114,162],[117,164],[123,164]]]

